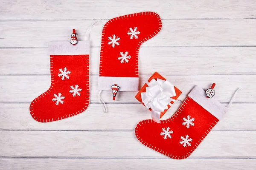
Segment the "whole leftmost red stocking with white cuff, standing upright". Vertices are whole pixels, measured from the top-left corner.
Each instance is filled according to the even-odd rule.
[[[50,42],[51,85],[35,98],[30,114],[38,122],[75,116],[87,109],[89,92],[89,41]]]

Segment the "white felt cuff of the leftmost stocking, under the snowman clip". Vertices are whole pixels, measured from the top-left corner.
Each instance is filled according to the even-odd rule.
[[[78,41],[72,45],[67,41],[52,41],[48,44],[49,55],[81,55],[90,54],[89,41]]]

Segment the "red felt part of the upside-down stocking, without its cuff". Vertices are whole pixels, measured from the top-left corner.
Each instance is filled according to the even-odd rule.
[[[134,30],[137,27],[139,34],[132,37],[128,34],[130,28]],[[139,77],[139,49],[143,42],[151,39],[162,28],[162,22],[159,15],[155,12],[140,12],[135,14],[123,15],[113,18],[105,23],[102,30],[102,44],[100,52],[99,76],[104,77]],[[118,39],[119,45],[113,47],[110,38]],[[128,62],[121,63],[118,59],[120,52],[131,58]],[[120,87],[122,88],[122,87]]]

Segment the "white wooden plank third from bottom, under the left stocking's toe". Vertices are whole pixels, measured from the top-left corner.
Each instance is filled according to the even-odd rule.
[[[172,116],[180,105],[181,103],[172,105],[162,119]],[[0,130],[133,131],[138,122],[151,119],[151,113],[140,103],[111,103],[107,107],[108,113],[104,113],[100,104],[93,103],[77,116],[45,124],[32,119],[29,114],[29,103],[0,103]],[[256,130],[256,116],[252,112],[252,108],[255,107],[256,103],[234,103],[213,130]]]

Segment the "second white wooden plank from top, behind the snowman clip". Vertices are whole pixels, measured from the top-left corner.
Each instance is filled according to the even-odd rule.
[[[99,47],[103,25],[90,34],[91,46]],[[92,20],[0,21],[0,47],[47,47],[49,41],[69,41],[76,28],[78,40],[84,40]],[[250,28],[250,31],[245,31]],[[163,20],[156,37],[144,46],[222,46],[256,45],[255,20]]]

